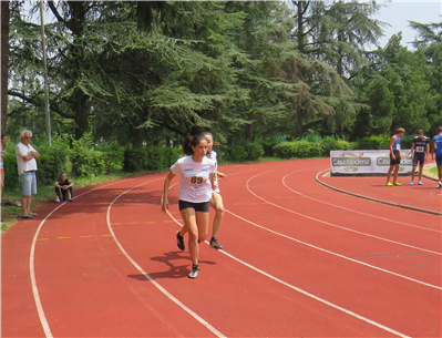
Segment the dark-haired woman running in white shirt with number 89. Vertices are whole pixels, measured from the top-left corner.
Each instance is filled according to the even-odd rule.
[[[183,152],[188,156],[181,157],[172,167],[164,181],[162,209],[168,209],[167,193],[171,181],[181,175],[179,181],[179,212],[184,219],[184,226],[176,233],[177,245],[185,249],[184,234],[188,232],[188,250],[192,257],[191,278],[198,276],[198,239],[205,240],[209,222],[209,201],[212,199],[214,185],[214,172],[216,164],[208,158],[208,142],[204,135],[188,136],[184,140]]]

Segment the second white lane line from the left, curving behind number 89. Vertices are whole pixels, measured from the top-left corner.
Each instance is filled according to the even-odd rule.
[[[160,180],[164,180],[160,178]],[[158,180],[155,180],[158,181]],[[151,181],[154,182],[154,181]],[[119,199],[121,196],[123,196],[124,194],[129,193],[130,191],[142,186],[144,184],[151,183],[151,182],[145,182],[138,185],[135,185],[134,187],[125,191],[124,193],[121,193],[119,196],[115,197],[114,201],[112,201],[112,203],[109,205],[107,207],[107,214],[106,214],[106,222],[107,222],[107,228],[112,234],[112,237],[114,238],[116,246],[120,248],[120,250],[123,253],[123,255],[127,258],[129,262],[131,262],[131,264],[148,280],[151,281],[160,291],[162,291],[168,299],[171,299],[173,303],[175,303],[178,307],[181,307],[184,311],[186,311],[187,314],[189,314],[192,317],[194,317],[197,321],[199,321],[199,324],[202,324],[205,328],[207,328],[209,331],[212,331],[215,336],[224,338],[226,336],[224,336],[220,331],[218,331],[215,327],[213,327],[208,321],[206,321],[205,319],[203,319],[201,316],[198,316],[195,311],[193,311],[191,308],[188,308],[187,306],[185,306],[182,301],[179,301],[176,297],[174,297],[169,291],[167,291],[164,287],[162,287],[154,278],[152,278],[129,254],[124,249],[124,247],[121,245],[120,240],[116,238],[116,235],[112,228],[111,225],[111,207],[112,205],[115,203],[116,199]],[[171,214],[169,214],[171,215]],[[172,215],[171,215],[172,216]]]

